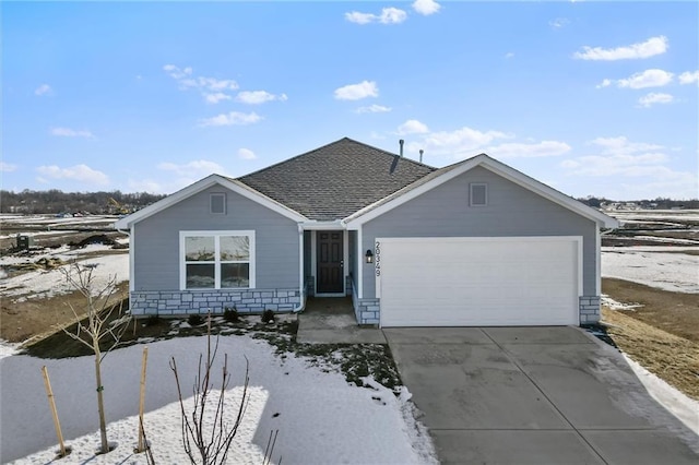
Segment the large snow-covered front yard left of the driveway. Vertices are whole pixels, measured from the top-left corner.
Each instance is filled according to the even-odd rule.
[[[146,463],[143,454],[133,454],[143,347],[116,350],[104,361],[107,436],[118,446],[98,456],[94,456],[99,434],[91,357],[0,359],[0,462],[49,463],[56,455],[58,442],[40,374],[46,365],[63,437],[73,451],[59,463]],[[191,392],[205,347],[205,337],[149,345],[144,425],[157,463],[188,462],[169,359],[177,360],[182,391]],[[284,464],[437,463],[429,434],[414,419],[407,391],[396,397],[376,383],[374,389],[348,385],[340,373],[323,372],[293,355],[281,359],[266,343],[248,336],[221,337],[216,367],[223,354],[228,355],[233,373],[227,395],[233,407],[241,392],[244,356],[250,362],[249,406],[229,463],[262,463],[270,431],[276,430],[274,463],[280,458]],[[217,380],[214,385],[220,385]]]

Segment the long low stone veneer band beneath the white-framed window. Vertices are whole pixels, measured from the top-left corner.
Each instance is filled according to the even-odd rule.
[[[131,293],[131,314],[180,315],[191,313],[223,313],[235,308],[240,313],[258,313],[264,310],[292,311],[301,301],[298,289],[245,289],[245,290],[156,290]]]

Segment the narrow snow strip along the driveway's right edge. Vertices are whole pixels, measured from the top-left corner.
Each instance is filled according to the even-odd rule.
[[[627,363],[633,370],[648,393],[671,414],[677,417],[687,428],[699,436],[699,401],[688,397],[655,374],[641,367],[624,354]]]

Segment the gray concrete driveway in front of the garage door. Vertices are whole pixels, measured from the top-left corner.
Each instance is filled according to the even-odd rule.
[[[699,438],[582,330],[383,333],[443,464],[699,463]]]

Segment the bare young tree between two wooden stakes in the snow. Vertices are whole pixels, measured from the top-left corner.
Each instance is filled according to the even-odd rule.
[[[83,266],[72,263],[68,269],[61,269],[68,284],[85,298],[84,313],[79,312],[71,303],[76,320],[75,332],[63,331],[75,341],[90,347],[95,355],[95,383],[97,385],[97,410],[99,413],[99,452],[109,452],[107,442],[107,421],[104,407],[104,385],[102,384],[102,362],[121,343],[130,317],[121,315],[114,319],[115,312],[121,314],[121,299],[117,296],[117,277],[110,276],[107,283],[97,287],[93,276],[94,266]],[[83,319],[85,320],[83,322]],[[103,348],[104,347],[104,348]]]

